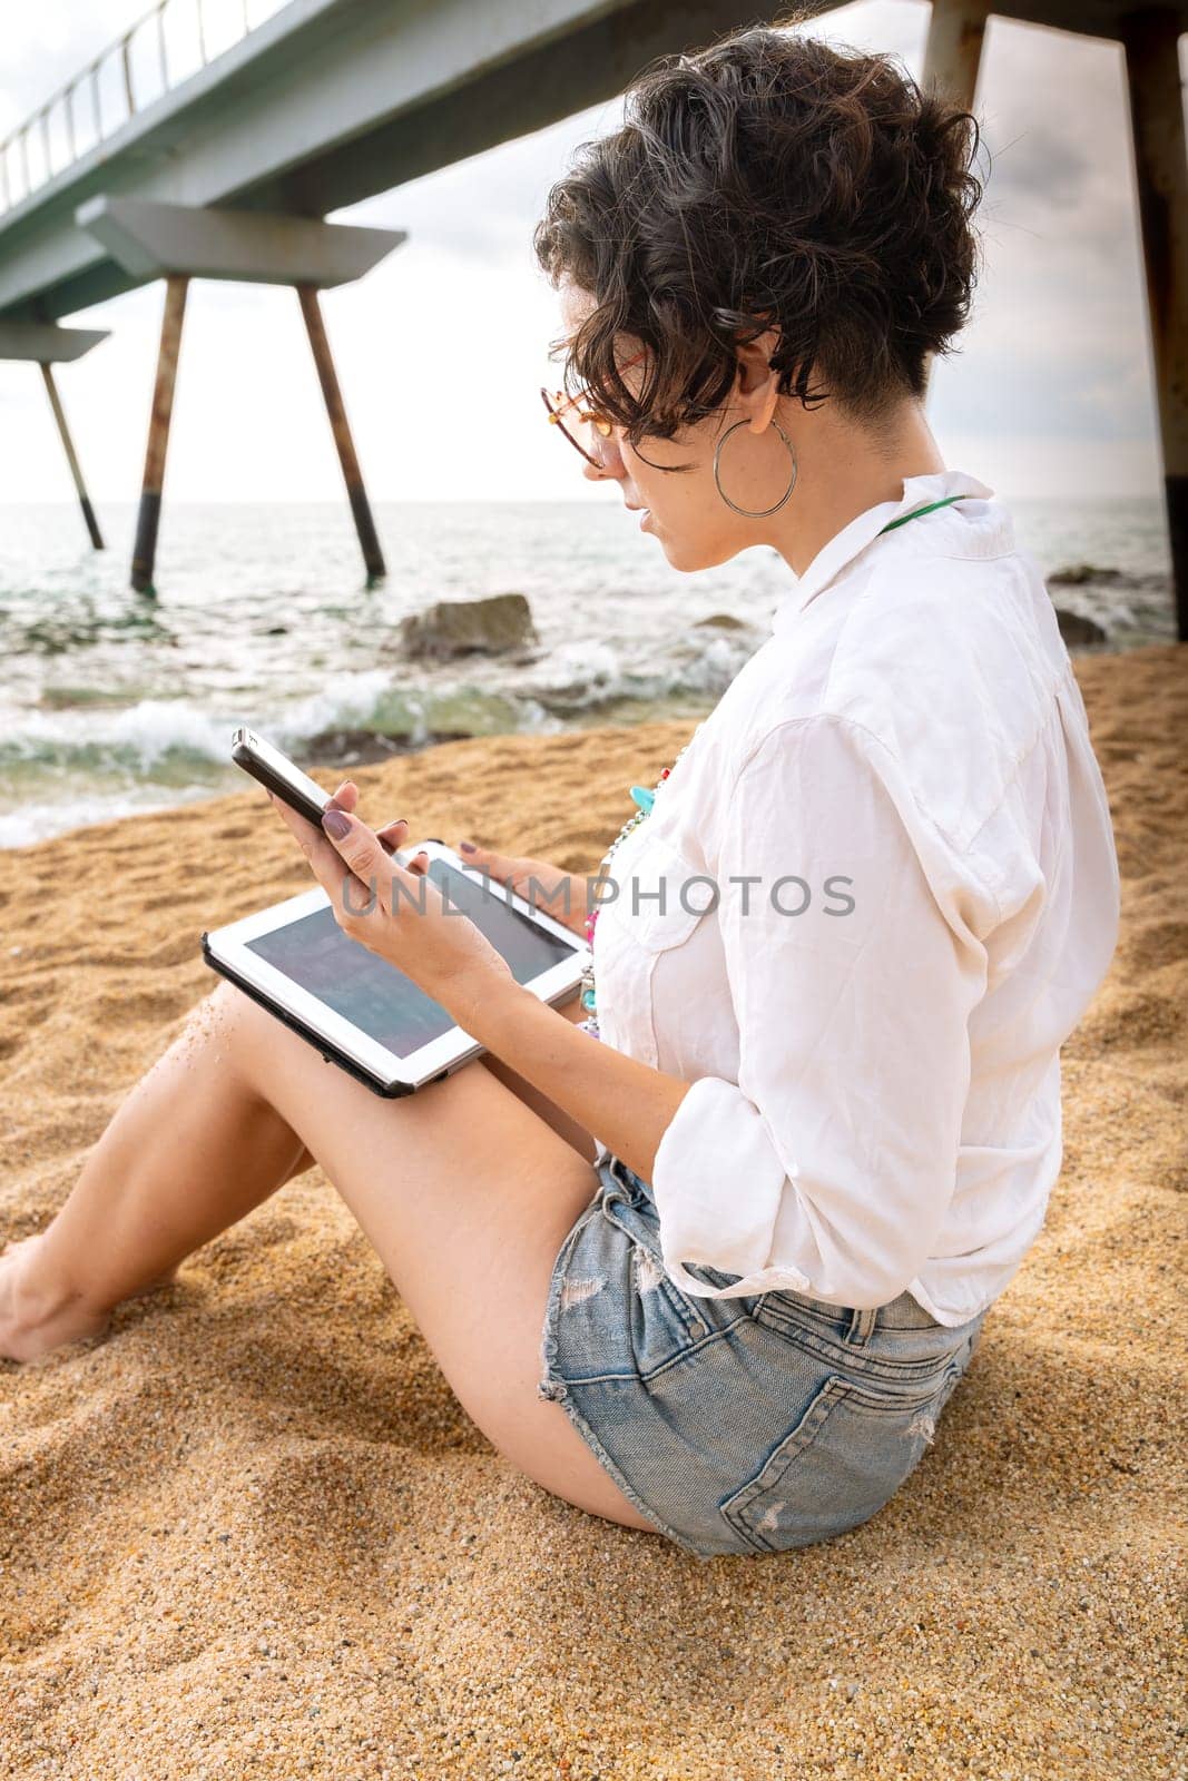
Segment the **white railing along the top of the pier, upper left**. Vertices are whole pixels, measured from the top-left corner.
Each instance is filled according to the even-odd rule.
[[[182,85],[287,0],[157,0],[0,141],[0,216]]]

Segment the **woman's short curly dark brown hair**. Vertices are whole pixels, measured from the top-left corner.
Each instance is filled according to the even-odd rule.
[[[650,62],[623,125],[582,142],[549,192],[536,258],[554,287],[597,299],[552,356],[632,447],[721,408],[736,344],[766,328],[782,395],[834,397],[878,426],[923,397],[928,353],[969,319],[976,118],[887,55],[801,36],[810,16],[798,5]],[[620,335],[648,347],[638,395]]]

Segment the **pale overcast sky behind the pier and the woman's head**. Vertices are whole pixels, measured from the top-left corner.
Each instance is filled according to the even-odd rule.
[[[142,0],[5,9],[0,135],[142,11]],[[892,52],[919,77],[928,5],[860,0],[812,28]],[[614,128],[620,110],[609,102],[338,212],[408,230],[374,272],[324,297],[376,499],[618,499],[582,481],[543,419],[559,317],[531,233],[570,150]],[[960,354],[933,367],[928,415],[946,463],[1005,499],[1158,495],[1122,52],[992,18],[976,112],[994,169],[980,210],[985,274]],[[71,317],[112,329],[59,372],[98,502],[139,492],[160,299],[146,287]],[[292,292],[191,287],[167,495],[340,497]],[[36,367],[0,365],[0,502],[68,497]]]

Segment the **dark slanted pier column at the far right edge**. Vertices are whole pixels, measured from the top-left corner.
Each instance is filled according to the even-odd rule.
[[[1188,643],[1188,159],[1179,18],[1170,7],[1129,12],[1119,20],[1119,37],[1131,96],[1176,634]]]

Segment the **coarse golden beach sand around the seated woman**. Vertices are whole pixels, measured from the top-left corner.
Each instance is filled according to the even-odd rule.
[[[312,1170],[109,1338],[0,1362],[5,1781],[1188,1774],[1188,647],[1078,679],[1122,939],[1047,1225],[891,1505],[698,1564],[550,1498]],[[370,821],[593,871],[691,728],[354,778]],[[201,930],[310,883],[255,789],[0,853],[0,1240],[214,987]]]

